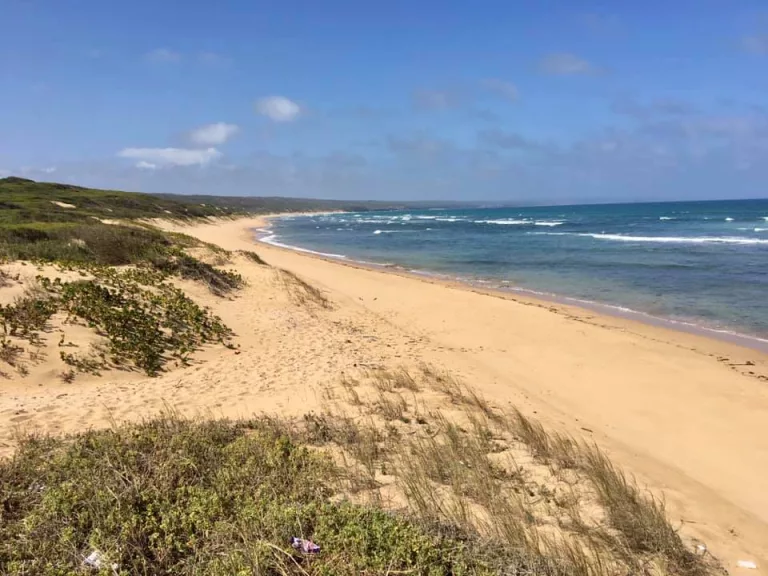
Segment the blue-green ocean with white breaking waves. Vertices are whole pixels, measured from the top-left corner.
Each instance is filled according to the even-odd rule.
[[[260,239],[768,345],[768,200],[297,216]]]

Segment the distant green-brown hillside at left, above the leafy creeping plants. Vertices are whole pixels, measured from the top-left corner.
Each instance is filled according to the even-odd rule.
[[[242,285],[237,274],[185,252],[200,247],[217,254],[226,254],[225,250],[184,234],[164,232],[144,221],[232,216],[237,211],[21,178],[0,179],[0,194],[4,202],[0,261],[55,262],[70,267],[145,266],[203,282],[218,295]]]

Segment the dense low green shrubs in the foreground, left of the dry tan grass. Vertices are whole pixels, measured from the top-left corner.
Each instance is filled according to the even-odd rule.
[[[266,420],[30,437],[0,463],[0,572],[75,573],[98,550],[126,575],[497,573],[457,533],[331,503],[336,474]]]

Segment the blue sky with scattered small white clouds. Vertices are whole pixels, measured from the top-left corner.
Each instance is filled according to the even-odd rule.
[[[0,0],[0,177],[147,192],[768,196],[764,3]]]

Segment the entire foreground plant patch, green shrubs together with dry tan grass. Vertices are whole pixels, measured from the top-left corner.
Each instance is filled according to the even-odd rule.
[[[350,390],[356,402],[334,396]],[[504,413],[453,377],[369,370],[326,393],[335,398],[328,411],[296,420],[167,413],[27,436],[0,463],[0,567],[60,574],[90,559],[104,574],[718,569],[683,543],[663,502],[597,448]],[[433,410],[435,394],[460,408]],[[398,415],[382,397],[399,398]],[[293,538],[320,550],[297,550]]]

